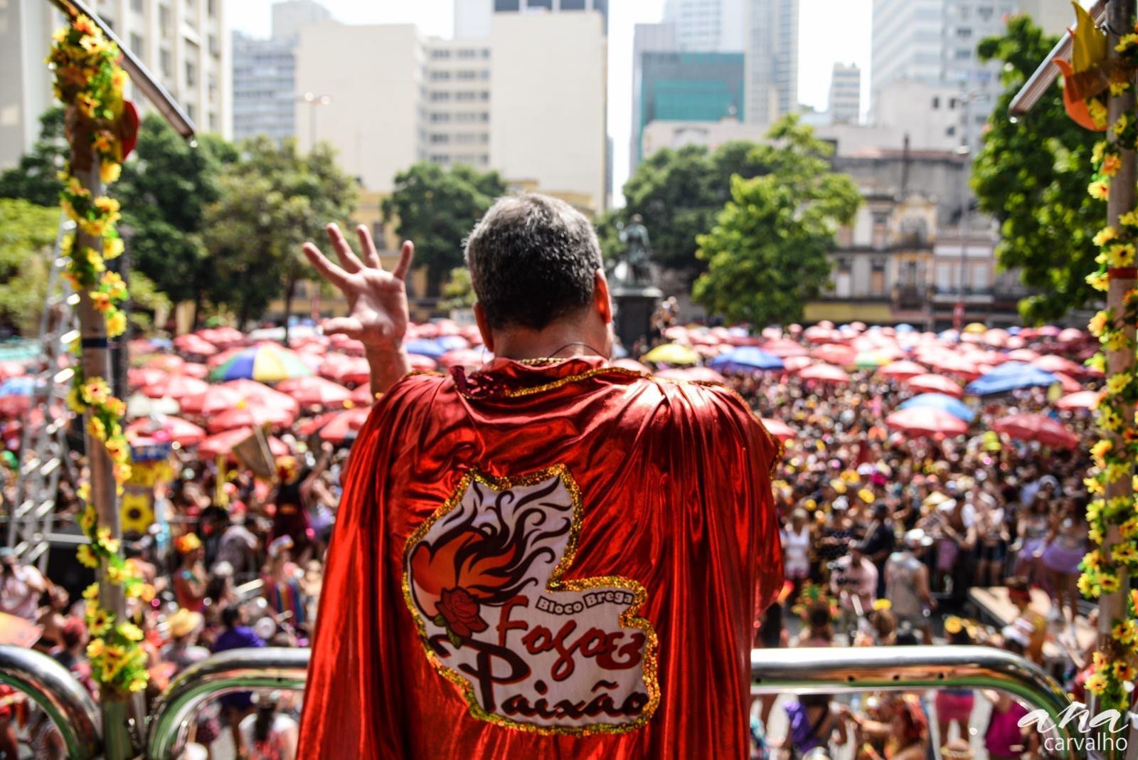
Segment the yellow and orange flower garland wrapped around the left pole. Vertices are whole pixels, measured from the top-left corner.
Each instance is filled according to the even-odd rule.
[[[55,94],[67,108],[67,139],[72,162],[60,172],[64,189],[59,205],[83,233],[101,241],[101,246],[84,245],[74,250],[75,239],[64,241],[67,258],[65,276],[76,290],[85,292],[96,311],[106,320],[107,336],[116,338],[126,331],[126,315],[119,309],[126,297],[126,283],[106,262],[123,253],[123,240],[115,231],[119,218],[118,201],[106,196],[93,197],[73,173],[98,167],[104,183],[118,179],[121,164],[134,139],[137,121],[123,100],[126,74],[118,66],[118,47],[85,16],[57,31],[47,63],[55,71]],[[74,347],[79,348],[77,344]],[[68,406],[86,415],[90,439],[100,441],[113,464],[117,493],[131,476],[130,445],[123,435],[125,404],[110,391],[105,378],[88,378],[75,367]],[[79,547],[79,561],[99,570],[102,579],[123,588],[130,598],[152,598],[154,589],[119,554],[119,542],[110,529],[99,526],[91,504],[90,484],[81,484],[79,497],[86,505],[80,515],[80,527],[90,540]],[[85,620],[90,643],[86,647],[91,670],[105,691],[139,692],[149,679],[147,654],[140,646],[142,630],[129,620],[115,616],[99,603],[99,584],[83,592],[86,600]]]

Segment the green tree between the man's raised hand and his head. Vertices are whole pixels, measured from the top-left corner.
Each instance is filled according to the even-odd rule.
[[[475,223],[505,195],[497,172],[456,164],[420,162],[395,175],[384,199],[384,218],[396,221],[401,238],[415,243],[415,261],[427,267],[429,292],[437,292],[451,270],[462,266],[462,241]]]

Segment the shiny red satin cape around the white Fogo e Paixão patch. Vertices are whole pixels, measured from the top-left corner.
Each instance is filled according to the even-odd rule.
[[[783,583],[769,481],[778,455],[734,393],[600,358],[407,375],[376,404],[352,451],[298,757],[748,757],[752,623]],[[657,637],[658,704],[625,733],[542,734],[475,717],[428,659],[404,594],[409,538],[472,470],[493,479],[554,465],[579,489],[566,583],[619,577],[642,587],[636,614]],[[459,614],[455,600],[467,601],[452,594],[438,610]]]

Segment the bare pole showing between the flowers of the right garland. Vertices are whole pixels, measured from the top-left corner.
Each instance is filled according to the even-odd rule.
[[[1110,51],[1110,59],[1115,60],[1119,58],[1119,53],[1115,52],[1114,46],[1118,44],[1119,38],[1114,34],[1115,31],[1125,30],[1129,31],[1131,24],[1133,24],[1135,15],[1135,0],[1111,0],[1107,10],[1107,26],[1108,26],[1108,41],[1107,50]],[[1127,116],[1128,118],[1135,117],[1135,93],[1133,88],[1129,88],[1124,93],[1120,96],[1112,96],[1110,99],[1110,124],[1114,124],[1120,116]],[[1113,133],[1108,135],[1110,140],[1115,140]],[[1119,225],[1119,216],[1131,210],[1135,206],[1135,152],[1133,150],[1123,149],[1122,150],[1122,166],[1119,168],[1119,173],[1111,180],[1111,195],[1106,201],[1106,213],[1107,223],[1112,226]],[[1133,270],[1112,270],[1110,278],[1110,289],[1107,291],[1107,306],[1111,308],[1112,314],[1115,319],[1120,319],[1125,311],[1124,298],[1127,292],[1135,287],[1135,275]],[[1130,323],[1124,323],[1121,325],[1129,341],[1128,345],[1132,345],[1135,339],[1135,325]],[[1133,348],[1122,348],[1120,350],[1112,350],[1106,353],[1106,366],[1107,374],[1115,374],[1118,372],[1124,372],[1130,367],[1133,361]],[[1123,419],[1131,421],[1133,420],[1133,407],[1125,406],[1121,410]],[[1119,433],[1102,431],[1104,436],[1110,437],[1114,441],[1115,449],[1121,449],[1124,444],[1121,440]],[[1106,499],[1115,497],[1130,497],[1133,494],[1133,485],[1131,478],[1123,477],[1118,481],[1110,484],[1106,487],[1106,494],[1104,497]],[[1118,526],[1108,526],[1106,536],[1103,542],[1103,555],[1110,556],[1111,548],[1121,540],[1121,535],[1119,534]],[[1111,642],[1111,628],[1114,626],[1114,621],[1127,617],[1127,597],[1129,595],[1129,575],[1125,572],[1120,573],[1120,588],[1113,594],[1105,594],[1099,600],[1098,603],[1098,639],[1099,647],[1105,647]],[[1115,750],[1106,753],[1107,758],[1112,760],[1114,758],[1121,758],[1123,752],[1121,750]]]

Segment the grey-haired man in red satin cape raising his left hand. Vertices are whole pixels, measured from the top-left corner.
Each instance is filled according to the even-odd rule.
[[[778,444],[734,393],[609,364],[589,222],[504,198],[467,242],[495,358],[407,373],[404,278],[308,243],[382,393],[353,446],[304,758],[744,758],[753,621],[783,583]]]

